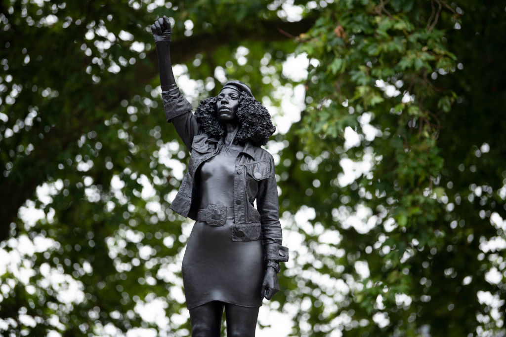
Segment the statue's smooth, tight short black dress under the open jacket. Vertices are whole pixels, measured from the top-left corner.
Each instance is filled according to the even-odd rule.
[[[222,202],[225,199],[228,202],[225,206],[233,205],[235,160],[240,150],[238,146],[224,145],[215,157],[201,165],[196,173],[201,194],[209,193],[210,198],[215,186],[221,186],[218,193]],[[233,241],[233,223],[234,219],[227,219],[223,226],[199,221],[193,225],[182,265],[188,309],[211,301],[262,306],[265,273],[262,240]]]

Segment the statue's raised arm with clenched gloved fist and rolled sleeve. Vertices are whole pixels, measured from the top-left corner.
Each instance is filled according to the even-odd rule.
[[[171,62],[171,23],[166,16],[151,25],[158,55],[161,96],[167,122],[172,122],[186,148],[191,151],[193,137],[199,133],[199,127],[193,116],[190,103],[181,95]]]

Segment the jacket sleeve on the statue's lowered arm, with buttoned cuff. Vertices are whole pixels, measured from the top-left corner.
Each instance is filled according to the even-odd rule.
[[[265,259],[286,262],[288,248],[281,246],[282,233],[279,223],[279,202],[274,159],[270,157],[271,176],[259,182],[257,208],[262,224],[262,239],[264,243]]]

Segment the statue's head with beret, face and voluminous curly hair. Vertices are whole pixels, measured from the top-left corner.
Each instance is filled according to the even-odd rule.
[[[276,130],[267,109],[255,99],[249,86],[237,80],[225,83],[217,97],[200,101],[195,117],[203,131],[216,138],[224,134],[224,123],[238,123],[234,138],[238,144],[250,141],[265,145]]]

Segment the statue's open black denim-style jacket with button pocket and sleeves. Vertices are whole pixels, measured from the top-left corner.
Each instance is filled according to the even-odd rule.
[[[178,194],[170,208],[184,217],[197,219],[195,173],[200,165],[216,156],[222,140],[209,137],[199,128],[190,103],[173,87],[162,91],[167,122],[172,122],[190,151],[190,161]],[[235,161],[234,224],[232,240],[263,240],[265,259],[288,261],[288,248],[281,246],[281,225],[274,159],[266,150],[247,142]],[[257,200],[257,208],[253,202]]]

